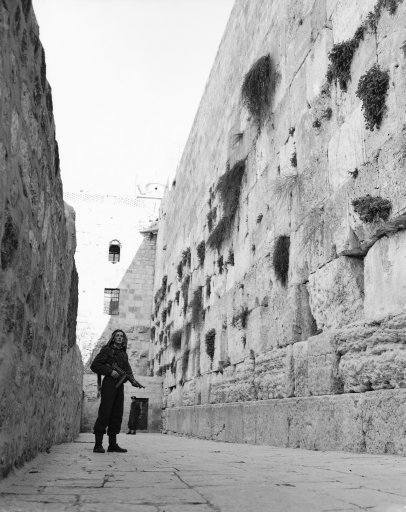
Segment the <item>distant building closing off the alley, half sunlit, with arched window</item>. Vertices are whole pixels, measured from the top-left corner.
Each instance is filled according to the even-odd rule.
[[[144,427],[160,426],[161,379],[149,377],[148,349],[157,229],[153,223],[158,199],[66,194],[75,205],[79,271],[78,343],[86,364],[82,429],[91,430],[97,414],[97,378],[89,357],[107,343],[115,329],[128,337],[131,366],[145,390],[125,386],[126,428],[132,395],[143,402]]]

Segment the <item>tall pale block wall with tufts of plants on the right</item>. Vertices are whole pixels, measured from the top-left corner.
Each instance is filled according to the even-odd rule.
[[[342,90],[329,53],[367,20]],[[151,361],[167,431],[406,454],[405,29],[402,0],[237,0],[160,214]],[[241,88],[265,55],[275,89],[258,129]],[[389,86],[370,130],[356,91],[376,64]],[[216,187],[241,160],[231,235],[213,250]],[[390,214],[357,213],[367,195]]]

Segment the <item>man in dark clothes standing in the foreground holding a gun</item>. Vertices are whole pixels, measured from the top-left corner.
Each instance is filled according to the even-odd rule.
[[[90,369],[98,374],[98,386],[101,393],[99,413],[94,424],[95,453],[104,453],[103,435],[109,436],[108,452],[125,453],[127,450],[117,444],[117,434],[121,430],[124,409],[124,383],[129,381],[136,388],[143,388],[134,378],[127,356],[127,336],[117,329],[111,335]],[[100,386],[101,376],[104,375]]]

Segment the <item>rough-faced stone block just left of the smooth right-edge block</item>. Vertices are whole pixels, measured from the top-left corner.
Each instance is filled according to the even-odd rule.
[[[341,256],[309,276],[310,307],[320,329],[340,327],[363,313],[363,262]]]

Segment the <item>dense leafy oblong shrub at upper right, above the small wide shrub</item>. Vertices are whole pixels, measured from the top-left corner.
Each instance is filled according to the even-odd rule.
[[[379,129],[386,110],[385,100],[389,87],[389,72],[372,66],[359,80],[357,96],[362,101],[365,124],[369,130]]]

